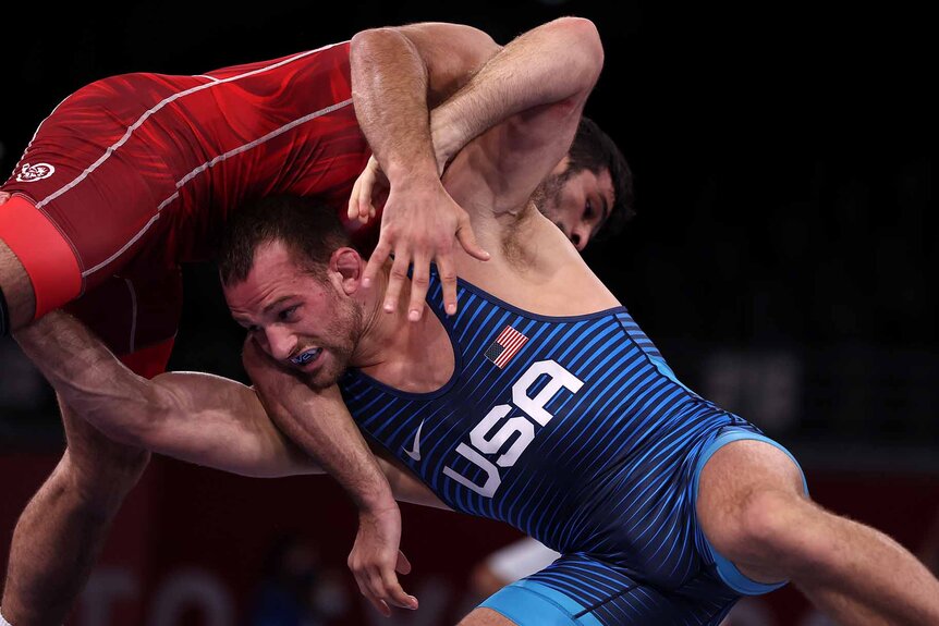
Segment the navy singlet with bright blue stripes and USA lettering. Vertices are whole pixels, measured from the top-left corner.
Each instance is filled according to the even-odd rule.
[[[623,307],[546,317],[464,281],[459,298],[448,317],[431,272],[427,302],[455,361],[441,389],[406,393],[357,370],[340,386],[363,431],[450,507],[562,554],[484,606],[525,626],[704,625],[783,584],[744,577],[695,516],[718,447],[778,444],[679,382]]]

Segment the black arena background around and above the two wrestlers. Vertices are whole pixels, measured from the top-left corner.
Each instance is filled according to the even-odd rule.
[[[198,74],[412,21],[464,22],[508,42],[559,15],[594,20],[606,65],[587,114],[630,161],[638,212],[588,250],[595,271],[682,380],[780,439],[809,475],[939,476],[936,50],[926,9],[7,4],[4,177],[52,108],[107,75]],[[171,367],[242,378],[241,335],[214,269],[187,268],[185,278]],[[0,454],[54,459],[62,438],[51,396],[9,340],[0,369]],[[923,498],[939,500],[927,484]],[[23,502],[0,506],[14,517]]]

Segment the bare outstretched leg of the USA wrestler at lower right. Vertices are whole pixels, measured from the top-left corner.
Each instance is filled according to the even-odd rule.
[[[789,578],[844,624],[939,624],[939,581],[899,543],[803,494],[795,464],[758,441],[720,449],[702,471],[698,519],[754,580]]]

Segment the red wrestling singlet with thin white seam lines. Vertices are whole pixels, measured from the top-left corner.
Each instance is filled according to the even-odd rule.
[[[0,238],[29,274],[37,317],[74,300],[155,376],[179,323],[180,263],[214,256],[228,212],[298,194],[344,214],[369,154],[347,42],[196,76],[112,76],[39,125],[2,187],[13,198]]]

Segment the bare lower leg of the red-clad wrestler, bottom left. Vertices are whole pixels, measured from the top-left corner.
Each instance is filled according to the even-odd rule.
[[[61,406],[69,447],[20,516],[10,547],[0,605],[15,626],[64,622],[149,459]]]

